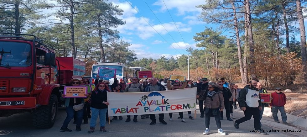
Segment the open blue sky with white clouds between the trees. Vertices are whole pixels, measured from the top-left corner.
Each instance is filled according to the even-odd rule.
[[[125,20],[126,24],[119,26],[117,30],[120,32],[121,39],[131,44],[128,48],[134,50],[139,59],[159,58],[161,55],[170,58],[188,54],[185,51],[187,47],[196,48],[196,42],[193,39],[195,33],[203,31],[205,26],[211,26],[198,19],[201,9],[195,6],[204,4],[204,0],[164,0],[169,12],[163,0],[145,0],[149,7],[143,0],[127,1],[110,0],[109,2],[119,5],[119,8],[124,10],[119,18]]]

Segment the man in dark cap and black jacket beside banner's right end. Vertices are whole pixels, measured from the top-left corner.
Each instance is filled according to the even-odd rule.
[[[200,118],[203,118],[205,115],[204,112],[204,100],[202,99],[202,96],[206,90],[208,90],[208,79],[206,77],[201,79],[200,83],[197,83],[197,92],[196,97],[198,99],[199,103],[199,111],[200,111]]]

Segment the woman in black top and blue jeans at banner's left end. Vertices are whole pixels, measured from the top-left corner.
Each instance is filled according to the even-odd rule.
[[[106,83],[98,83],[94,91],[91,93],[91,111],[92,118],[90,122],[90,130],[87,133],[93,133],[96,127],[96,120],[99,115],[100,121],[100,131],[107,132],[105,129],[106,124],[106,114],[108,110],[107,92],[110,92],[110,89]]]

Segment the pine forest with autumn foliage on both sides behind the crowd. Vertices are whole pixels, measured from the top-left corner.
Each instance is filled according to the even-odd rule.
[[[123,10],[103,0],[2,0],[0,32],[37,35],[57,56],[85,61],[87,70],[94,62],[107,61],[146,67],[164,76],[187,76],[190,56],[191,80],[258,79],[266,87],[307,83],[305,0],[207,0],[195,6],[203,10],[200,20],[218,28],[195,32],[200,48],[169,59],[138,59],[116,30],[125,24],[117,18]],[[42,12],[46,9],[51,12]]]

